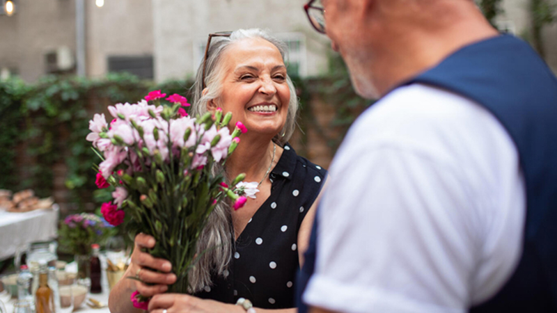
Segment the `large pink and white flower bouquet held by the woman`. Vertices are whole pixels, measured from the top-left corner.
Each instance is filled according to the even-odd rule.
[[[187,99],[152,91],[137,104],[116,104],[89,122],[97,154],[97,186],[114,186],[113,202],[102,205],[102,214],[112,225],[125,223],[130,235],[138,232],[155,237],[151,255],[168,259],[178,277],[168,292],[187,293],[188,271],[196,264],[196,242],[217,203],[230,198],[234,209],[244,205],[245,175],[225,184],[223,172],[212,172],[240,142],[246,129],[238,123],[232,133],[231,113],[191,118]],[[149,104],[152,102],[152,104]],[[238,185],[238,186],[237,186]]]

